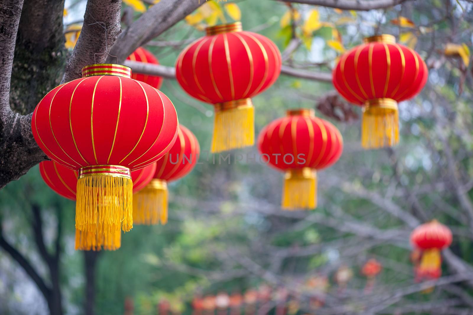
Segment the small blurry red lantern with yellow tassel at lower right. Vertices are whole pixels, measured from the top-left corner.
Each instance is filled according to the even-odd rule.
[[[437,279],[442,274],[440,251],[452,244],[452,232],[437,220],[424,223],[411,234],[411,243],[421,251],[416,280]]]

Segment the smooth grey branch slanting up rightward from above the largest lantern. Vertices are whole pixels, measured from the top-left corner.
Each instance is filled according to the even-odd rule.
[[[162,34],[204,3],[198,0],[160,1],[118,36],[110,54],[123,62],[136,48]],[[114,57],[109,56],[107,60],[114,61]]]

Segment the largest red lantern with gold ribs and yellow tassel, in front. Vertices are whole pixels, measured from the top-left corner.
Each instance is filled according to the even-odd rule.
[[[95,64],[46,94],[31,125],[53,161],[79,172],[76,228],[132,228],[131,170],[156,162],[177,136],[177,114],[159,90],[131,69]]]

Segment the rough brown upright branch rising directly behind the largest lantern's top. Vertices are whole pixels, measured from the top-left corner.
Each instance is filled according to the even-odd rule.
[[[61,82],[78,79],[81,77],[82,67],[105,61],[108,51],[121,32],[121,8],[122,1],[117,0],[87,2],[84,25]]]

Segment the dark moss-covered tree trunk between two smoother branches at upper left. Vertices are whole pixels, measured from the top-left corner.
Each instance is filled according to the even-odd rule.
[[[11,75],[10,106],[29,114],[56,87],[66,63],[64,0],[26,1],[21,12]]]

